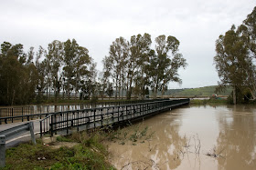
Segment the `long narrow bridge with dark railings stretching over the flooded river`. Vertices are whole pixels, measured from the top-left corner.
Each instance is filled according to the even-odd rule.
[[[40,137],[43,135],[68,135],[103,125],[121,125],[188,104],[189,99],[144,100],[104,104],[105,106],[95,105],[95,107],[85,109],[53,113],[1,116],[0,133],[24,125],[23,121],[26,121],[34,123],[34,132]],[[12,143],[14,144],[10,145],[18,144],[17,141]]]

